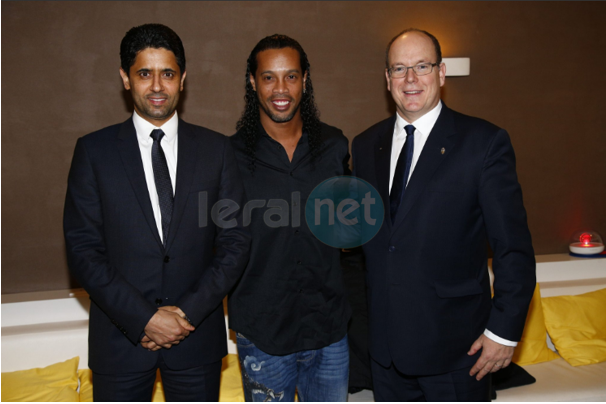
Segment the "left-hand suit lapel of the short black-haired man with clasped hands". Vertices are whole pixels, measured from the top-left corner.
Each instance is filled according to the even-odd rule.
[[[158,227],[156,226],[156,219],[154,218],[154,211],[149,199],[149,190],[147,189],[147,181],[145,181],[145,171],[143,170],[143,162],[141,161],[141,149],[139,149],[137,132],[132,118],[128,119],[120,127],[118,140],[118,149],[120,150],[120,157],[122,159],[122,164],[124,164],[126,175],[133,187],[135,196],[139,201],[139,206],[143,211],[145,220],[147,221],[151,232],[154,234],[158,245],[162,247],[162,241],[160,240]]]

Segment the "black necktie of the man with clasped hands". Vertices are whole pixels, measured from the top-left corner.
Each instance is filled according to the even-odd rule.
[[[162,243],[166,247],[168,239],[168,228],[170,218],[173,214],[173,186],[170,182],[168,173],[168,164],[160,140],[164,136],[162,129],[154,129],[150,135],[154,139],[152,146],[152,167],[154,169],[154,181],[156,182],[156,192],[160,203],[160,213],[162,214]]]

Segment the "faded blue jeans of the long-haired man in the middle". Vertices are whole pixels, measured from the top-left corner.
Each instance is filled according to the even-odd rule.
[[[347,335],[322,349],[269,355],[236,333],[246,401],[347,401]]]

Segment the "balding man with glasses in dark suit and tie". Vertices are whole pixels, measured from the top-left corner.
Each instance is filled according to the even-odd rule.
[[[397,114],[352,149],[386,212],[364,245],[375,399],[489,400],[485,376],[510,363],[535,286],[513,148],[505,130],[440,101],[433,35],[405,30],[386,56]]]

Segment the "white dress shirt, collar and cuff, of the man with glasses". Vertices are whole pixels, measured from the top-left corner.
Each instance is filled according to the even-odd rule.
[[[421,152],[423,151],[423,147],[425,146],[425,142],[431,133],[438,117],[440,116],[440,112],[442,111],[442,102],[438,102],[438,105],[435,106],[434,109],[414,121],[412,125],[415,127],[414,133],[414,150],[412,152],[412,162],[410,163],[410,173],[408,174],[408,178],[406,179],[406,184],[410,180],[412,176],[412,172],[419,161],[419,156],[421,156]],[[400,157],[400,152],[402,151],[402,146],[404,146],[404,142],[406,141],[406,131],[404,127],[406,125],[411,125],[411,123],[406,122],[404,118],[400,116],[400,114],[396,113],[396,124],[393,130],[393,140],[391,142],[391,164],[389,166],[389,192],[391,193],[391,185],[393,183],[393,177],[396,173],[396,165],[398,164],[398,157]],[[493,334],[489,330],[484,330],[484,335],[490,338],[491,340],[498,342],[501,345],[506,346],[517,346],[518,343],[515,341],[509,341],[504,338],[499,337],[498,335]]]

